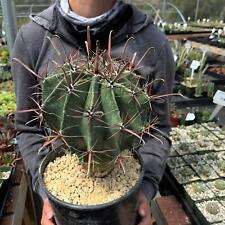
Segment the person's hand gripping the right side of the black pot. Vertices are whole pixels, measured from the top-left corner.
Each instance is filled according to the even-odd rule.
[[[138,206],[138,216],[139,221],[137,225],[152,225],[152,218],[151,218],[151,209],[148,202],[148,199],[145,195],[140,192],[138,196],[139,206]]]

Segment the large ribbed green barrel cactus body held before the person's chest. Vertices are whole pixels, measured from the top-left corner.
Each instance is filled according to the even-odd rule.
[[[82,61],[83,62],[83,61]],[[44,121],[70,151],[95,171],[113,165],[120,152],[137,147],[149,126],[149,96],[131,71],[109,72],[101,61],[99,74],[93,61],[65,63],[42,83]],[[118,78],[119,77],[119,78]]]

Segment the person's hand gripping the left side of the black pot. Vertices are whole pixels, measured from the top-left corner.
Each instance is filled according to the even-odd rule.
[[[54,212],[52,210],[52,206],[49,200],[46,198],[44,199],[44,204],[42,209],[41,225],[54,225],[53,215],[54,215]]]

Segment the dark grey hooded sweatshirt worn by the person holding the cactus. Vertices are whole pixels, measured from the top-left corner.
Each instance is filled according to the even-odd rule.
[[[91,21],[91,24],[88,24],[89,22],[81,23],[80,20],[74,20],[63,11],[60,1],[57,0],[19,30],[13,58],[26,65],[18,63],[18,60],[12,62],[17,110],[25,111],[16,114],[19,150],[25,167],[32,176],[33,189],[45,198],[39,181],[38,168],[50,147],[39,151],[46,141],[46,129],[37,113],[38,107],[41,106],[36,104],[40,77],[54,72],[55,63],[62,64],[65,58],[74,54],[77,49],[86,55],[84,43],[87,25],[90,26],[93,50],[97,40],[101,49],[107,49],[108,36],[113,30],[112,58],[122,56],[127,39],[132,37],[127,44],[124,59],[131,61],[134,53],[137,53],[135,61],[137,63],[145,55],[136,72],[145,79],[145,82],[153,81],[150,120],[157,117],[156,130],[153,130],[152,137],[147,137],[146,143],[139,149],[145,169],[142,191],[150,200],[158,190],[170,149],[170,98],[154,98],[172,92],[174,62],[169,44],[148,15],[122,1],[119,1],[116,10],[106,14],[103,19]],[[59,143],[55,143],[57,144]]]

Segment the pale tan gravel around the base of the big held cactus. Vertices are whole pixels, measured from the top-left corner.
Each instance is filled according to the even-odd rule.
[[[118,199],[137,182],[140,164],[129,151],[121,153],[120,163],[103,178],[89,177],[75,154],[67,154],[49,163],[44,172],[47,189],[64,202],[98,205]],[[122,168],[123,167],[123,168]]]

